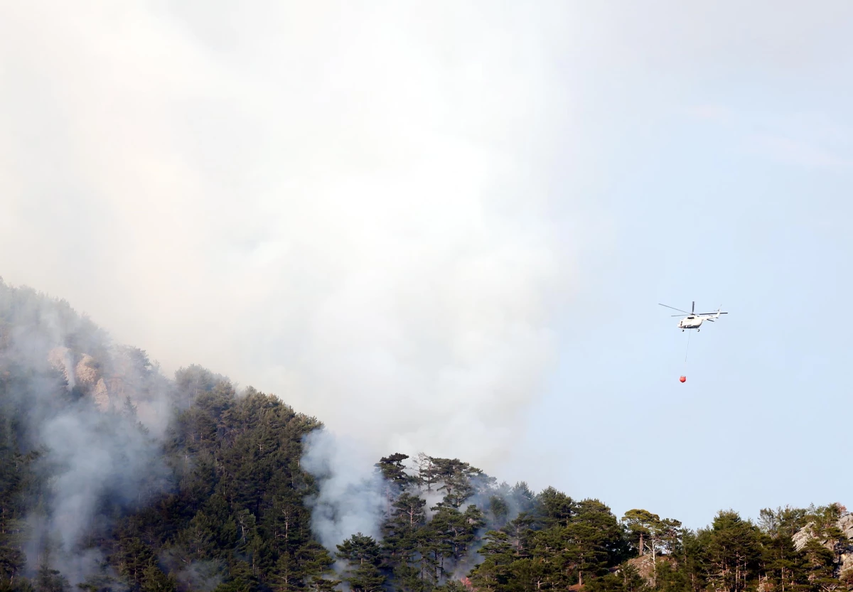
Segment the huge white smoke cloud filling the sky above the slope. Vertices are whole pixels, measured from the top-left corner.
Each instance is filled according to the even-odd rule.
[[[3,275],[374,460],[491,469],[598,233],[553,189],[576,152],[548,57],[572,39],[565,11],[11,3]]]

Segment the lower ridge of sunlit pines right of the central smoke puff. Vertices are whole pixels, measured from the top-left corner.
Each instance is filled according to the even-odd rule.
[[[853,515],[837,503],[763,509],[757,523],[721,511],[691,531],[644,509],[618,519],[598,500],[553,488],[495,487],[459,461],[421,456],[410,477],[406,458],[378,465],[400,485],[385,537],[358,534],[339,548],[351,589],[853,589]],[[427,519],[422,496],[434,483],[446,495]]]

